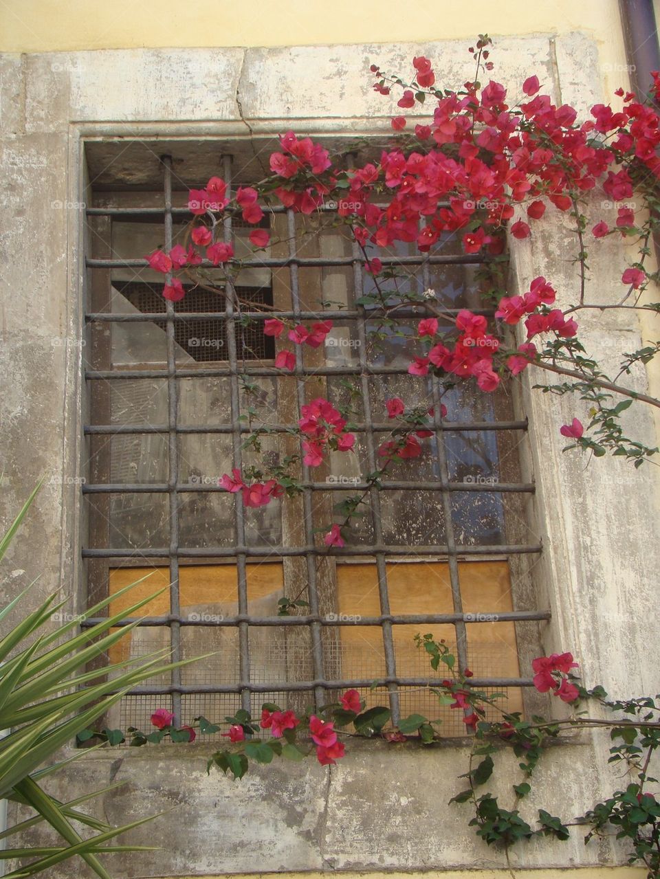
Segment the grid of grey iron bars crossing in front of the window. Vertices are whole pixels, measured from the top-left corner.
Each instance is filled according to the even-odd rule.
[[[173,207],[172,204],[172,163],[168,156],[163,157],[163,180],[164,180],[164,210],[154,207],[89,207],[87,214],[89,217],[105,217],[109,221],[126,219],[134,214],[153,216],[158,219],[164,216],[164,248],[170,250],[172,246],[172,225],[173,221],[184,219],[188,220],[190,214],[185,208]],[[223,157],[223,177],[231,185],[232,161],[230,156]],[[231,447],[234,455],[234,466],[241,467],[242,461],[242,445],[245,434],[250,432],[250,427],[244,425],[241,416],[240,405],[240,385],[239,377],[243,374],[249,376],[278,376],[281,373],[274,367],[264,365],[263,362],[243,363],[239,362],[239,351],[237,348],[238,329],[237,323],[240,319],[248,318],[252,322],[263,321],[268,316],[279,316],[281,318],[292,318],[296,322],[319,319],[319,312],[306,309],[301,301],[299,274],[301,268],[308,267],[348,267],[352,269],[352,279],[354,285],[354,294],[359,299],[363,289],[363,272],[365,260],[359,250],[357,243],[352,245],[352,254],[349,257],[302,257],[298,252],[296,240],[296,224],[295,216],[292,211],[286,211],[282,207],[269,207],[269,211],[273,214],[286,214],[286,228],[288,232],[288,254],[285,257],[265,257],[259,258],[257,264],[259,267],[268,267],[271,269],[288,269],[290,277],[291,290],[291,308],[288,310],[260,310],[254,309],[241,316],[237,316],[234,308],[232,296],[225,298],[225,307],[222,310],[209,311],[184,311],[175,308],[170,301],[166,302],[163,316],[163,309],[155,309],[153,312],[141,310],[131,314],[112,313],[111,311],[91,311],[87,310],[85,320],[88,324],[104,325],[112,323],[147,323],[160,322],[164,323],[166,331],[166,367],[163,368],[122,368],[122,369],[102,369],[94,368],[94,364],[85,370],[86,380],[93,385],[96,381],[128,381],[131,379],[163,379],[167,385],[167,422],[156,425],[112,425],[112,424],[88,424],[84,425],[84,434],[88,437],[107,436],[108,441],[112,437],[126,434],[157,434],[163,436],[167,440],[169,470],[166,481],[152,483],[86,483],[83,485],[83,493],[89,498],[90,496],[99,494],[112,494],[117,496],[127,494],[140,494],[142,492],[149,494],[166,495],[169,499],[169,545],[161,547],[141,548],[136,551],[134,548],[122,547],[85,547],[82,554],[83,559],[91,561],[94,559],[110,560],[129,560],[148,557],[149,560],[167,560],[169,565],[170,578],[170,613],[161,616],[152,616],[141,620],[142,627],[166,627],[170,629],[170,645],[171,655],[174,661],[178,660],[182,655],[181,650],[181,629],[188,626],[208,626],[206,620],[193,620],[190,616],[181,614],[179,606],[179,565],[181,561],[192,562],[193,560],[222,560],[230,559],[236,563],[237,570],[237,613],[226,616],[223,619],[214,621],[213,625],[217,627],[236,628],[238,631],[238,658],[239,658],[239,679],[233,683],[226,683],[216,680],[210,684],[193,684],[185,685],[182,683],[180,670],[175,670],[171,674],[170,683],[156,684],[154,686],[138,686],[132,691],[134,695],[165,695],[169,694],[172,700],[172,708],[175,714],[175,723],[182,723],[181,717],[181,698],[186,694],[240,694],[240,700],[243,708],[250,708],[250,695],[260,693],[295,693],[310,692],[315,694],[317,703],[327,701],[326,694],[330,691],[337,691],[348,687],[365,688],[373,684],[373,679],[339,679],[332,678],[325,672],[326,665],[323,655],[323,628],[327,626],[350,626],[352,622],[341,620],[329,620],[321,613],[319,607],[319,593],[316,578],[316,563],[318,556],[322,550],[315,541],[314,519],[312,514],[312,501],[316,491],[332,491],[341,492],[346,490],[343,483],[333,485],[316,483],[310,475],[307,466],[302,468],[302,501],[305,512],[305,529],[304,543],[301,546],[271,546],[271,545],[252,545],[250,541],[246,541],[245,536],[245,511],[240,502],[236,503],[235,512],[235,528],[236,542],[234,546],[205,546],[205,547],[183,547],[180,542],[180,506],[182,495],[189,492],[209,492],[213,493],[221,491],[217,485],[201,485],[194,483],[184,483],[180,479],[178,468],[178,439],[185,437],[186,434],[208,434],[208,435],[226,435],[231,439]],[[230,241],[232,238],[232,221],[227,217],[224,221],[224,239]],[[112,270],[115,268],[139,268],[146,265],[146,260],[141,258],[135,259],[117,259],[113,258],[92,258],[86,259],[88,269],[93,273],[95,270]],[[434,265],[461,265],[461,264],[477,264],[482,261],[479,255],[433,255],[433,254],[417,254],[404,257],[382,257],[384,265],[410,265],[411,268],[418,270],[421,266],[424,277],[424,287],[430,287],[430,272]],[[205,265],[207,265],[205,263]],[[230,285],[230,281],[228,281]],[[456,313],[455,309],[453,313]],[[479,309],[474,309],[478,311]],[[372,376],[396,376],[406,374],[405,366],[385,366],[367,362],[366,359],[366,321],[374,317],[374,309],[367,309],[361,305],[349,306],[348,309],[324,309],[323,318],[330,318],[340,321],[352,321],[358,333],[360,344],[357,346],[359,363],[357,368],[352,365],[348,366],[329,366],[313,365],[306,366],[303,363],[300,347],[296,347],[295,357],[296,366],[294,369],[294,377],[296,384],[297,403],[300,407],[307,402],[304,379],[309,376],[330,377],[351,376],[359,381],[359,389],[362,396],[364,406],[364,420],[362,424],[356,425],[354,432],[358,433],[366,447],[366,459],[369,472],[374,472],[377,463],[377,442],[376,434],[380,431],[388,430],[391,425],[379,421],[376,417],[372,406],[372,392],[370,386],[370,378]],[[488,310],[482,310],[482,313],[488,314]],[[416,308],[401,309],[400,314],[405,317],[420,316],[420,312]],[[176,356],[176,340],[180,336],[179,327],[182,323],[191,321],[208,321],[221,319],[223,324],[223,334],[226,338],[226,350],[223,352],[223,360],[226,362],[216,363],[212,367],[181,367],[177,363]],[[179,423],[179,388],[178,382],[182,379],[199,379],[227,377],[230,387],[230,410],[231,418],[229,423],[224,424],[203,424],[203,425],[185,425]],[[383,483],[382,490],[390,491],[410,491],[425,490],[438,492],[441,498],[441,507],[444,515],[445,542],[431,543],[424,546],[415,546],[415,552],[419,556],[440,556],[446,559],[448,564],[449,575],[451,580],[451,593],[453,600],[453,612],[449,614],[393,614],[390,610],[388,598],[388,570],[387,560],[396,558],[397,556],[405,556],[410,554],[410,548],[401,545],[388,544],[384,540],[381,527],[381,494],[380,490],[372,486],[369,490],[371,508],[374,517],[374,539],[369,543],[361,543],[355,546],[346,546],[345,548],[333,548],[330,550],[331,556],[349,556],[353,559],[363,558],[374,560],[378,575],[378,590],[380,598],[381,613],[368,617],[362,617],[359,621],[360,626],[380,627],[382,631],[386,674],[381,679],[383,686],[388,689],[388,697],[392,708],[393,719],[396,721],[399,716],[399,694],[406,687],[428,686],[432,681],[430,678],[423,677],[402,677],[396,672],[396,656],[393,640],[393,627],[399,625],[417,624],[419,626],[433,624],[451,624],[455,630],[457,660],[461,668],[468,665],[468,642],[466,622],[480,621],[488,619],[487,614],[466,614],[463,612],[463,604],[461,597],[461,583],[459,577],[459,560],[460,559],[478,559],[489,556],[506,556],[515,557],[527,554],[538,554],[540,552],[540,543],[535,542],[519,542],[519,543],[498,543],[497,545],[479,545],[476,543],[460,543],[456,540],[454,529],[454,518],[452,510],[453,492],[490,492],[497,493],[531,493],[533,492],[533,484],[502,482],[497,484],[481,484],[466,483],[452,481],[446,460],[445,438],[451,432],[517,432],[526,430],[525,420],[469,420],[461,422],[452,422],[443,420],[440,412],[440,386],[439,381],[435,378],[431,380],[432,397],[435,403],[434,433],[437,443],[438,454],[438,478],[425,481],[406,481],[391,479]],[[284,433],[291,425],[275,424],[270,425],[272,432]],[[352,483],[352,490],[366,490],[367,483],[364,480]],[[323,554],[326,549],[323,548]],[[247,588],[247,566],[249,560],[257,559],[285,559],[286,557],[301,557],[305,559],[308,574],[308,612],[291,616],[279,615],[258,615],[251,614],[248,606],[248,588]],[[539,610],[511,610],[509,612],[497,614],[499,621],[513,621],[520,623],[523,621],[543,621],[548,620],[549,614]],[[88,619],[83,622],[83,626],[91,627],[98,620]],[[124,620],[122,624],[126,625],[130,620]],[[279,682],[255,682],[250,679],[250,628],[251,627],[305,627],[308,629],[311,638],[311,653],[313,664],[313,678],[308,680],[286,680]],[[475,677],[473,679],[474,686],[496,686],[496,687],[524,687],[530,686],[531,680],[528,678],[490,678]]]

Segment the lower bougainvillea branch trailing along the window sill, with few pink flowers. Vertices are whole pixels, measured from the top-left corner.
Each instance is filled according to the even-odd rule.
[[[570,653],[554,653],[533,660],[533,686],[569,705],[570,714],[555,720],[542,716],[525,719],[520,712],[507,712],[499,707],[498,700],[504,694],[487,694],[470,686],[472,672],[458,670],[456,658],[444,641],[436,641],[432,635],[417,636],[416,640],[417,646],[429,655],[433,671],[442,667],[447,675],[446,679],[429,685],[438,697],[439,707],[460,711],[466,732],[472,734],[467,772],[461,776],[467,787],[449,802],[470,804],[472,817],[468,824],[480,839],[489,846],[503,847],[508,860],[509,848],[515,843],[538,836],[566,840],[570,837],[569,828],[575,826],[582,828],[585,844],[606,834],[624,839],[629,846],[628,862],[642,862],[649,869],[649,876],[660,875],[660,800],[656,792],[648,789],[649,784],[660,784],[649,774],[650,760],[660,748],[660,695],[655,699],[609,701],[602,686],[591,690],[582,686],[574,671],[577,663]],[[589,716],[584,706],[590,701],[617,716]],[[393,725],[389,708],[365,708],[359,692],[351,689],[341,694],[338,701],[310,707],[300,716],[265,702],[260,717],[254,718],[241,708],[234,716],[225,717],[222,725],[196,717],[191,725],[181,729],[171,725],[174,716],[170,711],[158,708],[151,716],[153,730],[129,728],[126,734],[121,730],[84,730],[79,740],[133,746],[158,744],[168,738],[173,742],[192,742],[195,729],[204,736],[217,734],[225,726],[221,737],[227,739],[227,745],[214,752],[207,769],[210,772],[218,767],[236,780],[249,771],[250,761],[269,764],[279,757],[296,762],[311,757],[322,766],[334,766],[345,756],[343,739],[378,737],[392,745],[410,742],[432,748],[442,737],[439,720],[413,714]],[[557,817],[536,803],[533,826],[532,818],[523,817],[520,811],[528,811],[526,803],[531,799],[533,774],[543,752],[549,751],[546,759],[551,759],[552,749],[548,745],[562,737],[562,733],[594,727],[610,730],[614,744],[609,762],[626,768],[629,783],[583,816]],[[510,787],[508,808],[498,803],[497,796],[487,788],[491,778],[497,777],[498,755],[506,750],[512,750],[519,759],[519,778],[513,783],[510,766],[502,767]]]

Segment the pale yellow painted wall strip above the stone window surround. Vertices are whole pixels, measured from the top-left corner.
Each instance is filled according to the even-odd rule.
[[[4,0],[0,51],[290,46],[585,31],[620,52],[617,0]]]

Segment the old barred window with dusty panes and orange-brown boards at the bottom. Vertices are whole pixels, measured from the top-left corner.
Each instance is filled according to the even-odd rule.
[[[144,728],[157,707],[172,708],[180,723],[241,706],[258,714],[263,701],[300,709],[348,686],[370,704],[389,700],[395,718],[439,716],[417,632],[445,638],[475,683],[523,709],[530,681],[519,657],[535,649],[548,613],[530,585],[540,545],[528,509],[533,485],[519,475],[526,421],[514,415],[511,389],[488,396],[407,373],[410,341],[368,301],[374,281],[331,205],[310,216],[268,207],[266,251],[253,251],[248,230],[228,221],[236,278],[205,265],[203,286],[191,275],[178,303],[165,303],[163,276],[145,262],[156,247],[185,242],[189,188],[213,174],[249,184],[263,176],[269,146],[87,143],[87,593],[92,603],[150,574],[112,602],[115,612],[166,587],[112,658],[162,646],[174,658],[214,651],[137,687],[116,723]],[[406,271],[386,292],[399,284],[417,294],[396,311],[404,328],[424,316],[428,290],[449,315],[489,313],[479,257],[462,254],[455,239],[429,254],[397,245],[381,258]],[[329,318],[333,328],[321,347],[300,349],[288,374],[274,367],[287,343],[264,335],[268,316]],[[233,467],[295,454],[292,428],[317,396],[352,422],[355,454],[301,466],[301,494],[259,509],[221,490],[219,477]],[[434,428],[421,458],[395,464],[382,490],[370,489],[366,477],[392,432],[392,396],[433,408]],[[318,529],[330,526],[334,505],[358,495],[362,518],[345,548],[329,550]],[[283,597],[307,605],[282,616]],[[442,710],[446,735],[462,734],[461,718]]]

